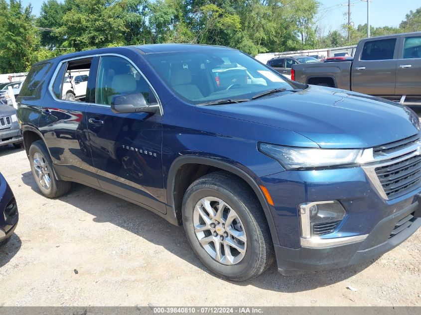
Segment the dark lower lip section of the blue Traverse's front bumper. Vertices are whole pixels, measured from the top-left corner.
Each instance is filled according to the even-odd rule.
[[[414,216],[408,221],[405,220],[414,214],[418,217]],[[397,224],[402,220],[407,223],[405,225]],[[283,275],[293,275],[355,265],[395,248],[420,226],[421,204],[417,201],[408,208],[381,220],[363,241],[324,248],[293,249],[275,246],[278,270]]]

